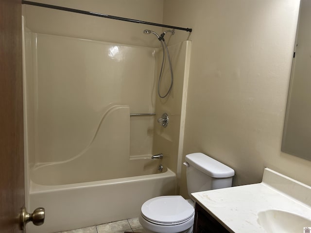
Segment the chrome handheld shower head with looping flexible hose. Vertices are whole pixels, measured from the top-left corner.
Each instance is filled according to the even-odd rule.
[[[171,58],[170,58],[170,53],[169,53],[169,49],[167,48],[166,42],[164,40],[164,36],[166,33],[172,33],[172,35],[175,33],[175,30],[167,30],[165,32],[163,32],[161,35],[159,35],[158,33],[155,33],[154,31],[151,30],[144,30],[143,33],[145,34],[155,34],[155,36],[157,37],[157,39],[161,42],[161,46],[162,46],[162,50],[163,50],[163,58],[162,58],[162,65],[161,65],[161,70],[160,70],[160,75],[159,75],[159,79],[157,81],[157,94],[160,98],[165,98],[167,97],[168,94],[170,94],[172,87],[173,87],[173,69],[172,69],[172,64],[171,64]],[[163,72],[164,72],[164,61],[165,61],[165,52],[164,52],[164,47],[166,50],[166,54],[167,54],[167,58],[169,60],[169,64],[170,64],[170,71],[171,71],[171,85],[169,90],[167,91],[167,93],[165,95],[161,95],[160,94],[160,85],[161,85],[161,80],[162,80],[162,76],[163,76]]]

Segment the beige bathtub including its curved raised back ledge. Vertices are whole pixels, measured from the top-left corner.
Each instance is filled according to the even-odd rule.
[[[130,156],[129,115],[128,106],[112,106],[77,155],[29,166],[28,209],[45,208],[46,219],[42,226],[27,224],[28,233],[56,233],[138,217],[144,201],[175,194],[175,173],[157,170],[166,157]],[[66,151],[58,152],[68,157]]]

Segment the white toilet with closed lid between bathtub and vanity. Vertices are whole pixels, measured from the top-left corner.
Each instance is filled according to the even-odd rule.
[[[188,194],[231,187],[234,170],[203,153],[186,155]],[[192,233],[194,202],[182,196],[147,200],[138,217],[148,233]]]

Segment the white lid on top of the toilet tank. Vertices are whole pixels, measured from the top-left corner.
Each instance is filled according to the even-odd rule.
[[[234,176],[234,170],[231,167],[228,167],[203,153],[187,154],[186,162],[210,177],[227,178]]]

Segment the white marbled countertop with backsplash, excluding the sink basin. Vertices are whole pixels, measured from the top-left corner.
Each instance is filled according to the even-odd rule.
[[[191,196],[233,233],[264,233],[258,213],[271,209],[311,219],[311,187],[269,168],[265,168],[261,183],[197,192]]]

